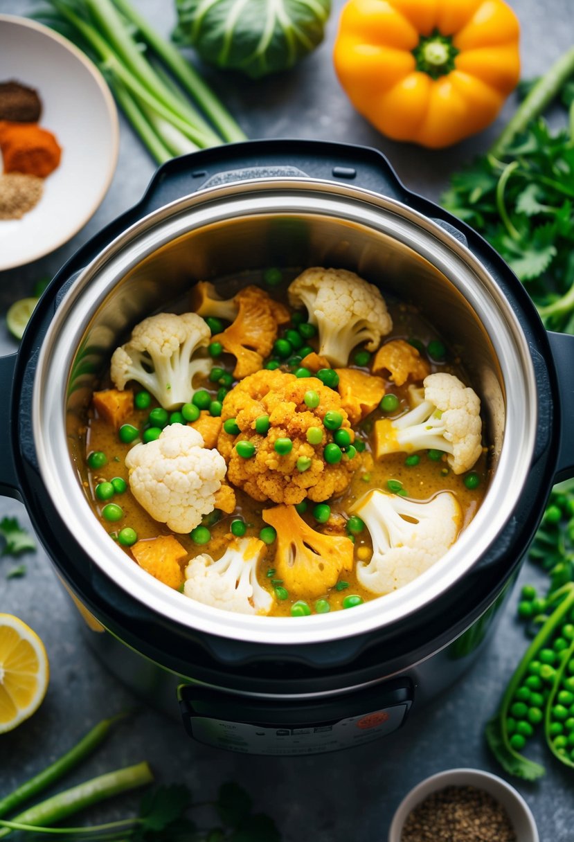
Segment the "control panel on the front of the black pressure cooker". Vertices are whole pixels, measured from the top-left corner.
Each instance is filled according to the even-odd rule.
[[[237,696],[194,685],[178,689],[183,723],[199,743],[242,754],[322,754],[370,743],[401,727],[408,681],[312,701]]]

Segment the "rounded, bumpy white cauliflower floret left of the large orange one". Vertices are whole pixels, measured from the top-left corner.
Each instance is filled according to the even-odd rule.
[[[132,447],[125,457],[137,502],[174,532],[189,532],[215,509],[226,461],[207,450],[196,429],[170,424],[155,441]]]

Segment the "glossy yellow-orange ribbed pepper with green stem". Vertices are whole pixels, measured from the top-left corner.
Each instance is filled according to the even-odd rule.
[[[503,0],[350,0],[333,58],[379,131],[440,148],[495,119],[518,83],[518,36]]]

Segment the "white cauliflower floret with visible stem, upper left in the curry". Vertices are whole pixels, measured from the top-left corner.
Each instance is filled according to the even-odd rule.
[[[198,348],[210,343],[211,333],[195,313],[158,313],[136,324],[130,341],[115,349],[111,378],[116,388],[135,380],[157,398],[164,409],[191,400],[196,374],[210,372],[210,360],[193,360]]]

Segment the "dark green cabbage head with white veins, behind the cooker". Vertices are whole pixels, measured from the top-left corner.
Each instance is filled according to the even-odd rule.
[[[179,44],[253,79],[292,67],[321,43],[331,0],[176,0]]]

